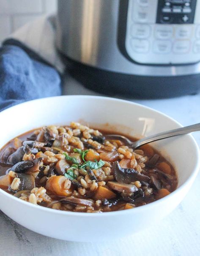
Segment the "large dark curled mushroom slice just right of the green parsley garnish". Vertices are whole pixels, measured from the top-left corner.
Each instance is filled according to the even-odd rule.
[[[113,174],[115,180],[119,183],[129,184],[133,181],[145,181],[149,182],[150,178],[146,175],[141,174],[140,172],[131,169],[131,168],[121,168],[118,161],[115,161],[112,166]]]

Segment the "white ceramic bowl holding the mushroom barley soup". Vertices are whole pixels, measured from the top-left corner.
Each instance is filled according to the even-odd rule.
[[[170,117],[145,106],[94,96],[61,96],[29,101],[0,112],[0,120],[0,147],[33,128],[80,120],[133,136],[148,136],[181,127]],[[173,163],[178,173],[178,189],[153,203],[123,211],[76,213],[36,206],[0,189],[0,209],[30,230],[80,242],[123,237],[155,225],[189,191],[200,167],[200,152],[191,135],[165,139],[155,143],[154,147]]]

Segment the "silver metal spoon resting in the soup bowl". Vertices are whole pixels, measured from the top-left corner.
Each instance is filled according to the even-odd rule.
[[[145,137],[143,139],[139,139],[135,142],[130,141],[125,136],[116,135],[116,134],[106,135],[106,139],[112,139],[112,138],[113,139],[121,139],[123,141],[126,141],[127,144],[129,144],[133,149],[135,149],[137,147],[140,147],[140,146],[145,145],[150,142],[154,142],[154,141],[157,141],[160,139],[166,139],[166,138],[170,138],[170,137],[178,136],[178,135],[182,135],[182,134],[189,134],[193,131],[200,131],[200,123],[197,123],[195,125],[189,125],[189,126],[182,127],[182,128],[178,128],[178,129],[174,129],[174,130],[170,130],[170,131],[164,131],[159,134],[155,134],[155,135]]]

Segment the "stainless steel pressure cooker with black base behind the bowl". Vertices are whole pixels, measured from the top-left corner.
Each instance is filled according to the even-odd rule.
[[[200,91],[200,0],[59,0],[56,38],[68,72],[98,92]]]

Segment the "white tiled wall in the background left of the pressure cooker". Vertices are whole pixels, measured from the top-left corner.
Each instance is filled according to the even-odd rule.
[[[26,22],[56,9],[57,0],[0,0],[0,42]]]

